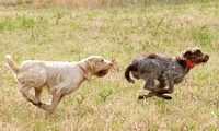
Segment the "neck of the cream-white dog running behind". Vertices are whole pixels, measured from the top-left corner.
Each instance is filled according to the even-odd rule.
[[[93,73],[90,71],[90,66],[87,61],[83,61],[83,62],[79,62],[78,63],[80,70],[82,71],[83,73],[83,78],[89,81],[91,79],[91,76],[93,75]]]

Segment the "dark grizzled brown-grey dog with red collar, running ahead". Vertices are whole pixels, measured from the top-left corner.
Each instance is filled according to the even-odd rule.
[[[143,87],[150,92],[148,95],[140,95],[139,99],[152,96],[171,99],[170,94],[174,91],[174,84],[181,83],[194,66],[205,63],[208,59],[209,56],[199,48],[187,49],[177,57],[160,53],[142,55],[136,57],[126,68],[125,78],[128,82],[135,83],[129,75],[131,72],[134,78],[146,80]],[[157,85],[155,80],[159,81]]]

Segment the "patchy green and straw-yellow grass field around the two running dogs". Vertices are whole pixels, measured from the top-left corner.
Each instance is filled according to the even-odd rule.
[[[142,4],[129,8],[0,11],[1,131],[218,131],[219,2]],[[124,70],[145,52],[176,56],[189,47],[209,53],[206,64],[175,85],[172,100],[137,100],[143,81]],[[64,98],[53,116],[25,102],[4,62],[78,61],[90,55],[116,59],[103,79],[92,78]],[[49,94],[43,93],[48,102]]]

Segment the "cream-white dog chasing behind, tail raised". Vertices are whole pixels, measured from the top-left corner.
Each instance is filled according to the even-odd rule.
[[[15,72],[21,93],[33,105],[53,114],[64,96],[78,90],[92,75],[104,76],[113,66],[101,56],[90,56],[79,62],[26,60],[16,66],[10,55],[5,56],[9,67]],[[48,87],[51,104],[42,103],[41,94]],[[28,91],[34,87],[35,96]]]

